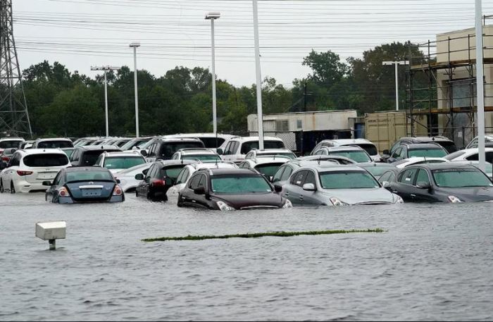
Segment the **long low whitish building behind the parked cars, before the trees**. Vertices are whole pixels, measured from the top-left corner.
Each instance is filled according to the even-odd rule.
[[[355,110],[319,111],[304,113],[281,113],[263,116],[264,131],[279,131],[276,121],[287,121],[287,131],[323,131],[323,130],[348,130],[349,118],[356,118]],[[301,121],[301,128],[299,128]],[[247,118],[248,130],[257,131],[257,114],[250,114]]]

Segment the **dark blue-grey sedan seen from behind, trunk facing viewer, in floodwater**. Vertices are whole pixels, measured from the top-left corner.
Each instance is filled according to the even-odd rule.
[[[79,202],[123,202],[125,194],[110,171],[99,167],[77,167],[61,170],[49,186],[45,199],[58,204]]]

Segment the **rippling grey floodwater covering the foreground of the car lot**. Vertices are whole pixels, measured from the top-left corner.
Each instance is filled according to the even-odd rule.
[[[0,320],[491,320],[493,203],[280,211],[0,195]],[[67,222],[57,250],[39,221]],[[387,233],[145,243],[145,237]]]

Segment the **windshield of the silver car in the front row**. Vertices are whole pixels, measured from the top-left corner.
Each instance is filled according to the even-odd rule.
[[[366,171],[330,171],[320,173],[323,189],[368,189],[380,184]]]

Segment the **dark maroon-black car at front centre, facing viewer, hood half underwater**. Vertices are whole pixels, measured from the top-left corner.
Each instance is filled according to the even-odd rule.
[[[221,211],[291,208],[281,190],[253,169],[208,169],[189,178],[177,204]]]

